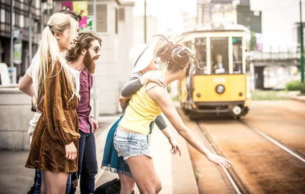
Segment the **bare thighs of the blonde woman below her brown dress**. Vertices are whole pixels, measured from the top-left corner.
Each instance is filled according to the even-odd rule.
[[[46,193],[65,194],[68,180],[68,173],[55,173],[44,170]]]

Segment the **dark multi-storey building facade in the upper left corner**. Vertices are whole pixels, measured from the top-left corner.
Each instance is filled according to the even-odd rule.
[[[29,12],[28,0],[1,0],[0,1],[0,62],[11,67],[11,2],[13,2],[13,34],[14,34],[14,67],[16,77],[23,76],[29,66]],[[46,25],[48,17],[53,13],[52,0],[32,0],[32,50],[33,56],[39,41],[41,29]],[[17,48],[19,49],[17,51]],[[32,58],[32,57],[31,57]],[[15,81],[16,83],[16,81]]]

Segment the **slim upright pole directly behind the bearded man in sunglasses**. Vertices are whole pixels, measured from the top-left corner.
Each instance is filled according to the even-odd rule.
[[[97,33],[97,2],[96,0],[93,0],[93,32],[94,33]],[[94,106],[94,118],[96,119],[97,122],[99,122],[99,111],[97,111],[98,109],[98,105],[97,105],[97,98],[98,98],[98,87],[97,87],[97,76],[96,74],[93,75],[94,77],[94,80],[95,82],[93,83],[93,89],[94,89],[94,92],[93,92],[93,106]]]

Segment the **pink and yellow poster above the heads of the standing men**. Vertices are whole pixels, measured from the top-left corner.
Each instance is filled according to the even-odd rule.
[[[62,10],[70,10],[81,15],[82,19],[79,21],[79,27],[87,27],[88,4],[87,1],[62,2]]]

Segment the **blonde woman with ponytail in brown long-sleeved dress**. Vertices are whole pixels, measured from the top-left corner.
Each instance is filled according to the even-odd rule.
[[[77,41],[78,23],[53,14],[39,45],[38,109],[42,110],[25,164],[42,171],[41,193],[65,193],[68,175],[78,169],[79,94],[64,52]]]

